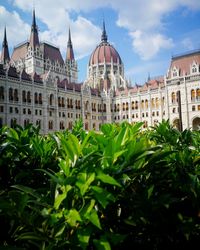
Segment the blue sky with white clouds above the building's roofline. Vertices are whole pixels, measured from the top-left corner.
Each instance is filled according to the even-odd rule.
[[[63,58],[70,27],[79,82],[103,20],[132,85],[165,75],[172,56],[200,49],[200,0],[0,0],[0,42],[6,26],[10,54],[29,39],[33,8],[40,41],[58,46]]]

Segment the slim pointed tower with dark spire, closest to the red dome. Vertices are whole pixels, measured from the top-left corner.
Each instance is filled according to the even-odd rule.
[[[67,42],[67,53],[66,53],[66,60],[65,64],[67,67],[67,76],[69,82],[77,82],[78,81],[78,69],[77,69],[77,62],[74,58],[74,51],[73,45],[71,41],[71,31],[69,28],[69,36]]]

